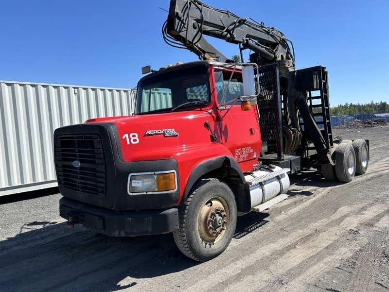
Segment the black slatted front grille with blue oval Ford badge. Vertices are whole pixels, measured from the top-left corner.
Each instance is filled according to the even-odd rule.
[[[54,162],[60,188],[106,195],[106,162],[99,135],[54,137]]]

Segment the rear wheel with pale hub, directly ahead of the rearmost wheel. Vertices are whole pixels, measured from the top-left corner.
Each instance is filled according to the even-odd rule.
[[[355,175],[355,152],[351,143],[340,143],[335,152],[335,173],[340,182],[349,183]]]

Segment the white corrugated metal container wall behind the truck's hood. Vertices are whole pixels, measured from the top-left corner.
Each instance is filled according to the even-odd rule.
[[[56,186],[56,128],[133,108],[130,89],[0,81],[0,196]]]

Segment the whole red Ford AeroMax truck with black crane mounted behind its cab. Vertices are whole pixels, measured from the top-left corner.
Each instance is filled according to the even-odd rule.
[[[173,232],[183,254],[206,261],[227,248],[238,215],[287,197],[288,174],[316,167],[326,180],[349,182],[366,172],[369,142],[333,139],[325,68],[294,70],[290,51],[269,45],[269,36],[284,45],[281,33],[249,23],[267,34],[267,49],[252,29],[243,39],[256,50],[250,63],[201,53],[203,40],[183,39],[180,19],[192,13],[198,25],[189,27],[206,34],[204,16],[225,15],[204,4],[192,12],[189,2],[200,3],[171,1],[165,29],[203,60],[146,67],[134,115],[56,129],[54,159],[60,216],[71,227],[113,237]],[[209,34],[226,33],[236,36]]]

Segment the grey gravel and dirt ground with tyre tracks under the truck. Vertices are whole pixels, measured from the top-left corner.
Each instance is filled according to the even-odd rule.
[[[289,198],[238,218],[227,251],[206,263],[182,256],[171,234],[70,230],[59,194],[2,197],[0,290],[388,291],[389,127],[334,132],[370,139],[368,172],[346,184],[291,176]]]

